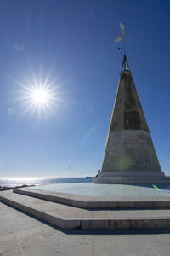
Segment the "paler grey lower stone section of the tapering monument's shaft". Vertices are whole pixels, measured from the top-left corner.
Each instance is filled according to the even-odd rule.
[[[150,133],[143,130],[111,132],[105,148],[102,172],[103,175],[111,172],[110,176],[120,177],[165,177],[158,165]],[[119,172],[119,175],[115,172]]]

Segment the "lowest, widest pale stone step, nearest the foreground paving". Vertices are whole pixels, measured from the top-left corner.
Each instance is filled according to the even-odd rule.
[[[170,210],[87,210],[56,202],[0,193],[0,201],[61,229],[144,230],[169,229]]]

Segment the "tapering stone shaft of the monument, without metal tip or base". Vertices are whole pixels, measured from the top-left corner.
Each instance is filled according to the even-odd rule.
[[[121,74],[101,171],[133,171],[134,177],[138,177],[138,171],[152,171],[150,177],[159,177],[159,172],[164,176],[128,71]]]

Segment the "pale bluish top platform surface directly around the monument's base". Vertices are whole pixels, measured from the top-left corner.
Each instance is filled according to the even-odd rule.
[[[31,189],[61,192],[76,195],[104,196],[104,197],[170,197],[170,186],[157,185],[123,185],[123,184],[94,184],[94,183],[54,183],[39,185]]]

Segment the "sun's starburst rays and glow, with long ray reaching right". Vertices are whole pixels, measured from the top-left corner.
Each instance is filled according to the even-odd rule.
[[[37,120],[46,118],[58,119],[59,122],[65,118],[65,109],[78,105],[87,108],[86,103],[75,102],[68,90],[68,79],[63,79],[63,71],[54,76],[54,68],[49,71],[44,68],[38,69],[35,73],[31,65],[28,67],[28,74],[25,78],[12,79],[15,84],[14,98],[11,98],[8,115],[14,113],[16,123],[25,116],[34,117]],[[45,76],[46,75],[46,76]]]

